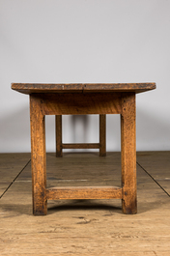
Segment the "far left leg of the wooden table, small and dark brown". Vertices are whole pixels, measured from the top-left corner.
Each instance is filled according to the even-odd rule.
[[[62,115],[55,116],[56,157],[62,157]]]

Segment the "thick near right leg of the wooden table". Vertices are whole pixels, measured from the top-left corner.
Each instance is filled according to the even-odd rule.
[[[122,99],[121,145],[123,213],[137,213],[136,200],[136,142],[135,142],[135,94]]]

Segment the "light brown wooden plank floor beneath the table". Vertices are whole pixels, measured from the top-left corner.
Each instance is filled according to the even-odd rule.
[[[47,154],[47,186],[120,185],[120,153]],[[49,201],[32,215],[30,154],[0,155],[0,255],[170,255],[170,152],[137,154],[138,213],[121,200]]]

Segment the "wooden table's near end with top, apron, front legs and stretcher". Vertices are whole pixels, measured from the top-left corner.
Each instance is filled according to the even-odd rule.
[[[123,213],[137,213],[135,95],[156,83],[28,84],[12,89],[30,95],[33,213],[47,213],[47,200],[122,199]],[[121,115],[122,187],[62,186],[46,188],[45,115]]]

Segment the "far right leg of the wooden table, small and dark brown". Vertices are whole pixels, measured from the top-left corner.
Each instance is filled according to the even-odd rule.
[[[99,115],[99,156],[106,156],[106,115]]]

